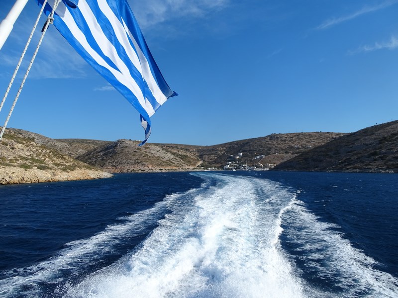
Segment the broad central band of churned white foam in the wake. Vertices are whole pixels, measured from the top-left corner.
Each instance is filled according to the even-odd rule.
[[[66,297],[304,297],[278,240],[294,194],[268,180],[208,176],[219,183],[168,198],[172,213],[139,250]]]

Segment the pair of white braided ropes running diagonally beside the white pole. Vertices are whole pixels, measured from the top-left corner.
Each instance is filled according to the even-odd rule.
[[[16,96],[15,96],[14,102],[12,103],[11,109],[10,109],[10,111],[9,111],[9,113],[8,113],[8,116],[7,116],[7,118],[5,119],[4,125],[3,125],[2,129],[1,129],[1,132],[0,132],[0,141],[1,141],[2,136],[3,136],[3,134],[4,134],[5,128],[7,127],[9,118],[11,117],[12,111],[14,110],[16,101],[18,100],[19,95],[21,94],[21,91],[22,91],[23,85],[25,84],[26,78],[27,78],[27,76],[28,76],[28,74],[29,74],[29,72],[30,72],[30,69],[32,68],[33,62],[34,62],[34,60],[35,60],[35,58],[36,58],[37,52],[39,51],[39,48],[40,48],[40,45],[41,45],[41,43],[42,43],[42,41],[43,41],[44,35],[46,34],[46,31],[47,31],[49,25],[52,24],[53,21],[54,21],[54,13],[55,13],[55,10],[57,9],[57,6],[58,6],[58,4],[59,4],[60,1],[61,1],[61,0],[55,0],[54,7],[53,7],[53,9],[52,9],[50,15],[47,17],[47,20],[46,20],[46,23],[44,24],[44,27],[43,27],[43,29],[42,29],[41,37],[40,37],[40,40],[39,40],[39,42],[38,42],[38,44],[37,44],[36,50],[35,50],[34,53],[33,53],[32,59],[30,60],[30,63],[29,63],[29,66],[28,66],[28,68],[27,68],[27,70],[26,70],[25,75],[23,76],[21,85],[19,86],[19,90],[18,90],[18,92],[17,92],[17,94],[16,94]],[[1,104],[0,104],[0,111],[1,111],[1,108],[2,108],[2,106],[3,106],[3,104],[4,104],[4,101],[5,101],[5,99],[6,99],[7,95],[8,95],[8,92],[9,92],[9,90],[10,90],[10,88],[11,88],[11,85],[12,85],[14,79],[15,79],[16,73],[17,73],[18,70],[19,70],[19,66],[20,66],[20,64],[21,64],[21,62],[22,62],[22,60],[23,60],[23,57],[25,56],[26,50],[27,50],[27,48],[28,48],[28,46],[29,46],[30,40],[32,39],[32,36],[33,36],[33,33],[34,33],[35,29],[36,29],[37,23],[39,22],[40,16],[41,16],[41,14],[43,13],[43,10],[44,10],[44,7],[45,7],[45,5],[46,5],[46,2],[47,2],[47,0],[44,0],[44,3],[43,3],[42,8],[41,8],[41,10],[40,10],[39,16],[38,16],[38,18],[37,18],[37,20],[36,20],[36,23],[34,24],[34,27],[33,27],[32,32],[31,32],[31,34],[30,34],[30,36],[29,36],[28,42],[26,43],[25,49],[24,49],[23,52],[22,52],[21,58],[19,59],[19,62],[18,62],[18,65],[17,65],[17,67],[16,67],[16,69],[15,69],[14,74],[12,75],[11,81],[10,81],[9,84],[8,84],[8,88],[7,88],[7,90],[6,90],[6,92],[5,92],[5,95],[4,95],[4,97],[3,97],[2,101],[1,101]]]

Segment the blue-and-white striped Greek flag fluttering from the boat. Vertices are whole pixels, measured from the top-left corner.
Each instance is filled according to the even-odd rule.
[[[48,0],[49,15],[56,0]],[[41,6],[44,0],[37,0]],[[54,25],[72,47],[140,113],[145,140],[150,117],[171,96],[127,0],[61,0]]]

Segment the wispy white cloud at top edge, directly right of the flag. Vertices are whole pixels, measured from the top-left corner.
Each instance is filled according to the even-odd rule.
[[[142,28],[147,28],[171,18],[204,17],[210,10],[227,7],[230,0],[129,0],[138,22]]]

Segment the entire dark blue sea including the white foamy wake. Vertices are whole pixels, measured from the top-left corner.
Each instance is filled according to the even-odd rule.
[[[397,298],[398,175],[0,186],[0,297]]]

